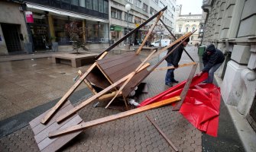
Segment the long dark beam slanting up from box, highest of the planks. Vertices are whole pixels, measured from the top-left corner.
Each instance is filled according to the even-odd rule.
[[[134,32],[136,32],[137,30],[139,30],[141,27],[144,27],[144,25],[146,25],[147,23],[149,23],[150,21],[152,21],[155,17],[158,16],[158,14],[160,14],[160,12],[165,11],[167,9],[167,6],[164,7],[163,9],[161,9],[160,11],[158,11],[156,14],[154,14],[153,16],[151,16],[150,18],[147,19],[147,21],[144,21],[142,24],[140,24],[138,27],[134,28],[134,30],[131,30],[131,32],[127,33],[125,36],[123,36],[120,40],[118,40],[116,43],[112,44],[112,46],[109,46],[108,49],[105,49],[104,52],[109,52],[111,49],[113,49],[115,46],[118,46],[119,43],[122,43],[123,40],[126,40],[129,36],[131,36],[131,34],[133,34]],[[103,53],[103,52],[102,52]],[[98,56],[102,55],[99,54]]]

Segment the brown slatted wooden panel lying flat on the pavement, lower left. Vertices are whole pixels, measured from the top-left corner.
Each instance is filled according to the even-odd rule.
[[[60,136],[58,138],[48,138],[48,133],[50,131],[55,131],[57,129],[66,128],[72,125],[78,125],[80,122],[83,122],[83,119],[76,114],[69,119],[66,119],[66,121],[57,124],[55,119],[70,109],[73,109],[73,106],[70,101],[67,101],[63,106],[60,107],[56,115],[54,115],[46,125],[41,124],[41,119],[44,118],[49,110],[29,122],[32,131],[34,132],[35,141],[37,142],[37,145],[41,151],[56,151],[60,149],[60,147],[63,147],[63,145],[65,145],[71,139],[75,138],[76,135],[79,135],[81,131],[72,133],[70,135]]]

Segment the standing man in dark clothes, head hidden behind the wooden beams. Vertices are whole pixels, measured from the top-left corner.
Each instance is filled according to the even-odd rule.
[[[178,64],[180,62],[181,55],[183,53],[183,47],[187,45],[187,43],[190,42],[190,37],[188,37],[183,43],[178,46],[170,55],[167,56],[165,59],[167,61],[167,66],[174,66],[174,68],[178,68]],[[175,48],[178,44],[174,45],[173,47],[170,47],[168,49],[168,52],[170,52],[173,48]],[[167,54],[168,54],[167,52]],[[174,79],[174,68],[168,69],[167,74],[165,76],[165,85],[172,87],[172,83],[178,83],[179,81]]]

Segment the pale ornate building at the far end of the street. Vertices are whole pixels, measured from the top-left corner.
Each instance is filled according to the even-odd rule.
[[[199,36],[199,32],[201,31],[202,27],[202,14],[180,14],[182,10],[182,5],[177,5],[176,7],[176,24],[175,24],[175,35],[177,37],[184,35],[188,32],[193,32],[192,36],[190,36],[190,43],[195,45],[196,43],[201,43],[202,37]]]

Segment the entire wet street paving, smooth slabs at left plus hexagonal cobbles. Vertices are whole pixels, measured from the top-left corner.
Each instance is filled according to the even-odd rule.
[[[193,59],[199,61],[195,47],[189,46],[186,47],[186,50],[193,56]],[[109,56],[120,53],[123,52],[109,52]],[[147,55],[148,52],[141,52],[141,59],[146,58]],[[151,65],[154,65],[164,55],[165,52],[151,61]],[[187,62],[191,62],[191,60],[186,53],[183,53],[180,64]],[[163,62],[160,66],[166,65],[167,63]],[[76,72],[79,69],[86,71],[87,68],[89,65],[72,68],[70,65],[54,64],[49,57],[0,62],[0,100],[2,105],[0,107],[0,151],[38,151],[34,134],[28,122],[50,109],[72,87]],[[186,80],[191,68],[178,68],[175,71],[177,80]],[[196,73],[198,72],[199,67]],[[169,88],[164,85],[164,77],[165,71],[153,71],[144,79],[148,85],[148,93],[142,94],[137,102],[141,102],[147,97],[153,97]],[[91,93],[86,84],[81,84],[70,97],[70,101],[76,106],[81,100],[90,96]],[[105,109],[106,103],[104,102],[94,108],[92,105],[95,102],[79,111],[79,116],[85,122],[120,112],[118,109]],[[223,102],[222,107],[225,107]],[[225,110],[223,113],[226,112]],[[207,145],[216,138],[211,139],[207,135],[203,135],[179,112],[173,112],[170,106],[151,109],[134,116],[88,128],[69,144],[66,144],[61,151],[173,151],[167,141],[151,125],[151,122],[146,119],[146,115],[157,122],[157,125],[180,151],[219,151],[216,149],[219,145],[227,147],[223,148],[223,151],[230,151],[228,146],[232,146],[234,143],[236,146],[232,151],[244,151],[237,134],[232,137],[235,138],[232,144],[222,143],[228,137],[226,135],[222,137],[224,141],[218,140],[221,144]],[[226,115],[227,113],[224,116]],[[228,119],[228,117],[225,118]],[[229,119],[228,121],[230,121]],[[219,133],[221,131],[219,130]]]

